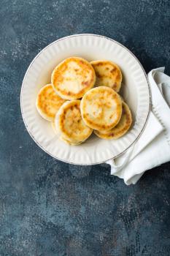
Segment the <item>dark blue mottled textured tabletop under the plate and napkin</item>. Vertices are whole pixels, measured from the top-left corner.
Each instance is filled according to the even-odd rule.
[[[126,187],[107,165],[76,167],[45,154],[20,115],[28,64],[55,39],[103,34],[147,72],[165,65],[170,75],[169,28],[169,0],[1,0],[1,256],[170,255],[169,163]]]

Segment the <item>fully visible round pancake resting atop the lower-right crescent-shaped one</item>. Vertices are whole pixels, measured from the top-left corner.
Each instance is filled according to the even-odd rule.
[[[89,127],[97,130],[112,129],[120,121],[122,101],[111,88],[99,86],[82,97],[81,113]]]

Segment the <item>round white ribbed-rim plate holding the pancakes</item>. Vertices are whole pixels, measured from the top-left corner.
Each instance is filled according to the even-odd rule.
[[[68,146],[54,134],[50,122],[37,113],[35,102],[39,89],[50,83],[54,67],[70,56],[88,61],[107,59],[120,66],[123,72],[121,94],[134,116],[132,128],[122,138],[102,140],[92,135],[80,146]],[[31,62],[23,79],[20,106],[28,133],[47,154],[63,162],[94,165],[119,156],[139,138],[150,113],[150,86],[142,65],[123,45],[95,34],[76,34],[48,45]]]

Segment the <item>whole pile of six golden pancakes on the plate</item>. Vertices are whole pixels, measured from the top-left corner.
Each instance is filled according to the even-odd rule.
[[[122,73],[112,61],[65,59],[53,70],[51,83],[36,98],[39,114],[69,145],[94,133],[107,140],[120,138],[131,127],[131,110],[118,94]]]

